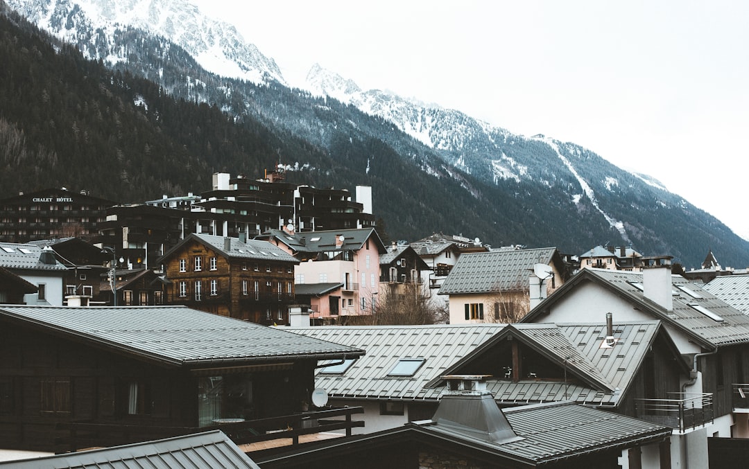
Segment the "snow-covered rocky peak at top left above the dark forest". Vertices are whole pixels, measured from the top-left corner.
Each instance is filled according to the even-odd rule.
[[[285,84],[272,58],[246,43],[233,25],[204,16],[188,0],[7,0],[7,4],[61,40],[97,45],[82,48],[87,58],[127,61],[125,47],[111,49],[103,57],[98,52],[124,28],[137,28],[178,44],[216,75]]]

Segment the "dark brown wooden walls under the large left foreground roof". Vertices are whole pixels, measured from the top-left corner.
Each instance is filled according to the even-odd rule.
[[[67,437],[58,424],[70,422],[138,426],[138,435],[108,441],[123,444],[199,431],[221,419],[294,414],[309,401],[317,363],[186,369],[10,320],[0,321],[0,357],[0,447],[40,451],[55,450],[55,438]]]

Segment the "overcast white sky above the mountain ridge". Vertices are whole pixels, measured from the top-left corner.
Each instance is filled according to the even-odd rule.
[[[749,239],[749,1],[195,1],[291,85],[318,62],[363,89],[572,141]]]

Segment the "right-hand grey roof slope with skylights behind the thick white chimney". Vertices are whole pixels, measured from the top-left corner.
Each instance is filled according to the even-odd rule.
[[[668,324],[676,325],[688,334],[696,334],[714,346],[749,342],[749,316],[730,306],[725,301],[721,301],[711,292],[700,288],[700,286],[688,281],[681,275],[673,275],[671,277],[673,284],[673,311],[667,311],[653,301],[646,300],[643,292],[633,285],[633,283],[641,283],[643,281],[641,273],[584,269],[577,275],[581,275],[583,272],[586,272],[585,275],[594,275],[600,278],[607,284],[614,286],[619,292],[625,293],[625,295],[634,299],[634,301],[646,304],[649,310],[652,310],[658,316],[658,319],[662,319]],[[688,289],[698,292],[702,298],[693,298],[679,289],[679,286],[685,286]],[[555,294],[558,293],[560,292],[555,292]],[[709,316],[695,310],[690,304],[698,304],[706,307],[712,313],[721,316],[724,320],[715,321]]]

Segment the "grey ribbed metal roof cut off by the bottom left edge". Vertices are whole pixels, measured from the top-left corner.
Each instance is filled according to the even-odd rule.
[[[196,433],[101,450],[0,462],[18,469],[260,469],[223,432]]]

